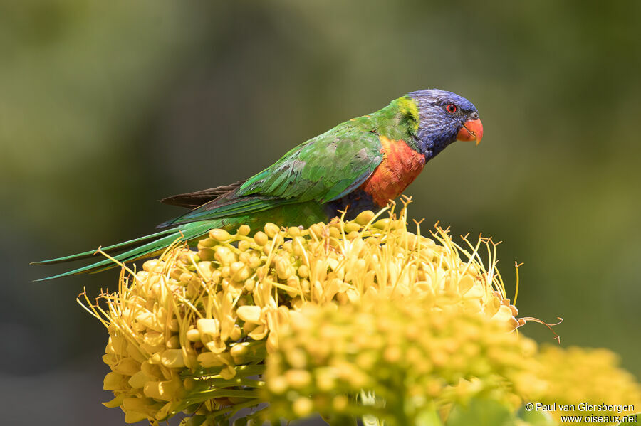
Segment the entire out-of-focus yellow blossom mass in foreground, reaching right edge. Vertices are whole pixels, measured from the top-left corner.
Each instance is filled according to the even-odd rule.
[[[437,422],[426,424],[458,426],[449,422],[453,408],[475,400],[500,403],[514,425],[556,425],[572,415],[616,425],[641,407],[641,386],[611,351],[551,345],[539,351],[479,313],[425,309],[420,298],[366,296],[292,316],[264,374],[262,393],[274,419],[318,412],[330,424],[374,416],[400,426],[432,415]],[[365,396],[363,390],[370,398],[349,398]],[[525,413],[536,420],[518,417],[525,403],[533,404],[535,412]]]

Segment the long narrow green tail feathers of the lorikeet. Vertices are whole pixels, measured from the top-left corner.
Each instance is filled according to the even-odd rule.
[[[134,260],[142,259],[143,257],[149,257],[150,255],[154,255],[157,252],[161,252],[177,240],[189,241],[193,238],[197,238],[201,235],[206,234],[212,228],[217,228],[215,220],[187,223],[185,225],[180,225],[177,228],[162,230],[159,233],[145,235],[144,237],[136,238],[135,240],[129,240],[125,241],[124,243],[110,245],[109,247],[103,247],[100,250],[109,253],[115,260],[118,260],[119,262],[132,262]],[[118,255],[112,255],[113,252],[120,252],[123,250],[126,251]],[[88,252],[78,253],[77,255],[58,257],[56,259],[50,260],[41,260],[40,262],[33,262],[32,265],[52,265],[54,263],[71,262],[73,260],[86,259],[95,255],[95,252],[96,250],[90,250]],[[93,262],[89,265],[79,267],[75,270],[63,272],[62,274],[53,275],[51,277],[37,279],[36,281],[46,281],[47,279],[66,277],[68,275],[86,273],[92,274],[95,272],[108,270],[116,266],[118,265],[115,264],[113,260],[103,259],[99,260],[98,262]]]

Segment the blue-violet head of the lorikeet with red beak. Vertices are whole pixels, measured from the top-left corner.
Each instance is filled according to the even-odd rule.
[[[418,109],[419,150],[430,157],[455,140],[481,142],[483,124],[474,104],[445,90],[417,90],[407,95]]]

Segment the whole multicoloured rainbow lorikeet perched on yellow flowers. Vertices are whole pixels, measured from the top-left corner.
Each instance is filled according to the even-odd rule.
[[[192,211],[162,223],[160,232],[103,247],[120,262],[164,250],[178,238],[192,241],[212,228],[253,228],[266,222],[309,226],[375,210],[400,196],[427,161],[455,140],[481,142],[483,126],[469,100],[444,90],[417,90],[372,114],[350,119],[291,149],[246,181],[184,193],[163,203]],[[94,250],[40,265],[90,257]],[[115,266],[100,260],[52,279]]]

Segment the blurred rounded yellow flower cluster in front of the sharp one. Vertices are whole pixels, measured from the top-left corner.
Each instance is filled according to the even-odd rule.
[[[375,415],[398,426],[471,397],[516,408],[536,344],[508,331],[478,313],[425,309],[422,298],[306,307],[268,358],[264,398],[274,418]],[[348,398],[362,389],[374,405]]]

